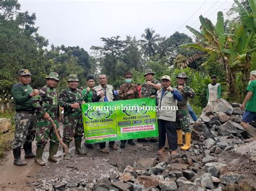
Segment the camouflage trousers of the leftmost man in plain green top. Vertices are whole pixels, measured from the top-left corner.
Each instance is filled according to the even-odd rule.
[[[24,143],[31,143],[35,139],[36,115],[16,112],[15,120],[15,135],[12,141],[12,148],[21,147]]]

